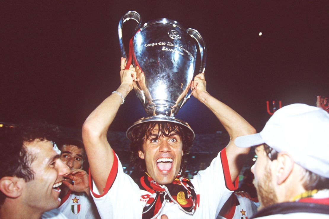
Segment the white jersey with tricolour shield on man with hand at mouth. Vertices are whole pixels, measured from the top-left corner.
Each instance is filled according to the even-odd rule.
[[[62,198],[58,209],[70,219],[94,219],[98,216],[95,204],[84,192],[71,192],[69,190]]]

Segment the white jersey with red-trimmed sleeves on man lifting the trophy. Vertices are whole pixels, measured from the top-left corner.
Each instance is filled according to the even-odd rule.
[[[91,183],[90,174],[89,180]],[[197,196],[195,212],[187,214],[177,204],[166,202],[159,215],[166,214],[170,219],[216,218],[216,209],[224,205],[238,186],[237,180],[235,185],[231,181],[225,149],[218,153],[207,169],[199,171],[190,181]],[[102,218],[141,218],[151,195],[139,189],[134,180],[123,172],[116,155],[104,192],[97,191],[94,183],[92,186],[91,194]]]

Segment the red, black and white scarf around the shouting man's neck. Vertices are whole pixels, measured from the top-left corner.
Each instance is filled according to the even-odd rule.
[[[142,219],[156,218],[167,202],[176,203],[181,210],[190,215],[196,209],[194,187],[188,178],[181,177],[181,172],[167,185],[159,185],[145,172],[140,178],[140,185],[142,189],[152,193],[143,209]]]

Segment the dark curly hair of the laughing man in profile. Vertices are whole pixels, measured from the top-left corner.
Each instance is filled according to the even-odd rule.
[[[36,155],[28,152],[24,142],[55,141],[59,133],[57,126],[40,121],[0,128],[0,179],[4,176],[16,176],[23,178],[25,182],[33,180],[31,164]],[[5,197],[0,192],[0,204],[3,204]]]

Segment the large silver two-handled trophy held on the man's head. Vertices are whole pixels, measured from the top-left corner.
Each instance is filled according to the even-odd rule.
[[[122,25],[129,19],[138,24],[130,40],[127,56],[122,40]],[[122,16],[118,32],[122,57],[128,60],[126,68],[133,64],[141,70],[134,90],[148,115],[127,130],[127,137],[131,139],[134,126],[150,121],[181,124],[189,128],[194,136],[190,125],[174,116],[191,95],[190,85],[195,76],[197,53],[195,41],[200,51],[199,72],[204,73],[205,70],[206,47],[199,32],[185,30],[177,21],[165,18],[142,24],[136,11],[128,11]]]

